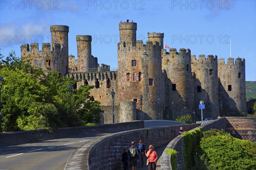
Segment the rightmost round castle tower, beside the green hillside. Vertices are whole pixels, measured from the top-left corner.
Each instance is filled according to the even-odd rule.
[[[222,108],[233,113],[246,113],[245,59],[218,60],[218,77],[222,96]]]

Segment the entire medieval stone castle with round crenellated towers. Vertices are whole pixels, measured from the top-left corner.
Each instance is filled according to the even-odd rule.
[[[68,26],[50,26],[52,43],[22,45],[22,59],[38,68],[60,71],[61,76],[79,79],[76,86],[94,85],[90,94],[105,111],[102,123],[114,121],[170,119],[184,114],[201,120],[216,119],[223,112],[246,113],[245,59],[191,55],[189,49],[163,49],[163,33],[148,33],[148,41],[136,40],[137,23],[119,23],[118,69],[99,66],[92,56],[89,35],[77,35],[77,59],[68,55]],[[52,49],[52,50],[51,50]],[[140,96],[143,98],[140,98]],[[142,105],[141,105],[142,99]]]

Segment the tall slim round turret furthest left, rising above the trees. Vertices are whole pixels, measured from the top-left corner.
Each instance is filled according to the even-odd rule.
[[[52,51],[55,54],[54,70],[60,71],[61,76],[68,68],[68,26],[50,26],[52,38]],[[55,51],[54,45],[60,44],[60,51]],[[58,46],[58,45],[57,45]]]

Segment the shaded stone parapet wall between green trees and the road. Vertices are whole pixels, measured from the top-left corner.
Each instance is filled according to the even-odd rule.
[[[66,127],[53,130],[51,133],[44,129],[24,130],[0,133],[0,146],[11,146],[25,143],[42,142],[43,140],[66,138],[69,136],[85,136],[99,133],[116,133],[120,131],[144,128],[144,122],[133,121],[109,125]]]

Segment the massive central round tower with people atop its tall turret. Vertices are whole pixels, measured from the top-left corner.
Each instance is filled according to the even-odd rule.
[[[138,113],[136,119],[140,120],[140,95],[143,95],[143,120],[163,119],[164,86],[160,44],[157,41],[147,41],[145,45],[141,40],[134,42],[136,27],[136,23],[119,24],[118,101],[135,101]]]

